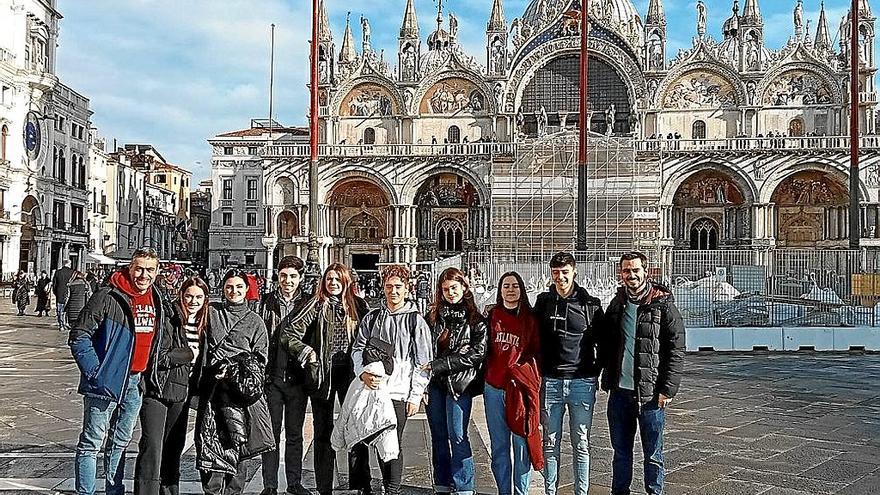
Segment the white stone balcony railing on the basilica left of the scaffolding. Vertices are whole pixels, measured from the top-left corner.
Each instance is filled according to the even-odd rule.
[[[323,157],[355,157],[355,156],[490,156],[510,155],[516,149],[514,143],[460,143],[460,144],[322,144],[318,146],[318,155]],[[267,146],[264,157],[275,158],[307,158],[308,144],[287,144]]]

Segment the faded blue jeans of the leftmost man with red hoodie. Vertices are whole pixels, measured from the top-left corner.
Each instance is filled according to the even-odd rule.
[[[119,404],[105,399],[83,397],[83,429],[76,444],[74,469],[76,493],[95,493],[98,473],[98,451],[104,447],[104,477],[107,495],[122,494],[125,474],[125,449],[141,409],[141,393],[138,390],[140,373],[130,375]]]

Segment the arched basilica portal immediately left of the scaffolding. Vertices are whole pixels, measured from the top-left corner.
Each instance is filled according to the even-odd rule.
[[[415,196],[419,259],[468,251],[479,237],[481,212],[477,189],[466,178],[440,173],[428,178]]]

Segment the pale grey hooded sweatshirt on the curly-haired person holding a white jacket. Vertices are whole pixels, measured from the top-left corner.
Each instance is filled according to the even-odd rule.
[[[377,338],[391,344],[394,371],[382,387],[388,391],[391,400],[418,404],[430,381],[427,371],[417,371],[434,358],[431,343],[431,329],[419,314],[418,307],[407,302],[395,312],[382,306],[370,310],[357,328],[357,336],[351,349],[354,376],[360,379],[364,371],[364,348],[370,338]]]

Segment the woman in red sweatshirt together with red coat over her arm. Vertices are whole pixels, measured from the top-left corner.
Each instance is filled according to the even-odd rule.
[[[532,379],[522,380],[520,385],[529,396],[539,397],[541,383],[535,359],[540,342],[538,323],[532,313],[525,284],[518,273],[507,272],[501,276],[495,305],[488,309],[487,316],[489,345],[483,402],[491,443],[492,474],[499,495],[526,495],[529,492],[532,464],[538,470],[544,465],[539,430],[540,409],[511,410],[514,404],[507,400],[506,389],[511,380],[518,380],[518,373],[531,373]],[[517,393],[516,388],[511,393]],[[513,418],[519,424],[509,424]],[[529,419],[533,423],[529,424]],[[511,432],[511,428],[516,428],[520,434]],[[524,435],[527,431],[531,435]],[[531,442],[526,436],[530,437]]]

